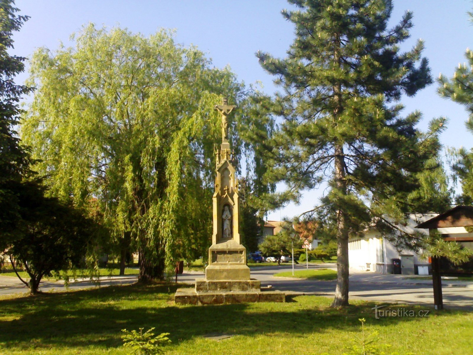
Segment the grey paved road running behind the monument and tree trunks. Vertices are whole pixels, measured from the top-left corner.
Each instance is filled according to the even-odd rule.
[[[296,265],[296,269],[305,265]],[[336,269],[336,264],[309,265],[309,268]],[[275,290],[292,293],[317,294],[332,297],[335,291],[335,281],[314,281],[272,276],[276,272],[290,271],[291,265],[256,266],[251,268],[252,278],[261,281],[262,286],[272,285]],[[193,284],[203,273],[191,272],[179,275],[179,282]],[[131,284],[136,281],[136,275],[114,276],[105,278],[100,286],[110,284]],[[446,307],[462,307],[473,310],[473,283],[455,280],[443,280],[443,296]],[[61,290],[61,282],[45,282],[41,284],[44,292]],[[70,285],[70,289],[96,287],[89,281]],[[16,278],[0,276],[0,295],[24,293],[26,287]],[[350,270],[350,298],[380,302],[403,302],[414,304],[433,304],[432,281],[406,278],[402,275],[382,275]]]

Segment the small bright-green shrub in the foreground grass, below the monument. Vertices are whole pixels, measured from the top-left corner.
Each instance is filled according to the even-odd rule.
[[[162,347],[171,342],[167,337],[169,333],[161,333],[157,337],[154,337],[154,333],[152,333],[154,328],[150,328],[144,333],[143,329],[144,328],[140,328],[139,333],[136,330],[128,331],[122,329],[125,333],[125,335],[122,335],[123,346],[131,347],[135,355],[163,354],[164,350]]]

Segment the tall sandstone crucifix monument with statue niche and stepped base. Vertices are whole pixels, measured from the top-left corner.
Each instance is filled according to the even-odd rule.
[[[240,302],[284,302],[285,294],[261,290],[261,282],[250,278],[246,248],[238,230],[238,181],[230,162],[228,115],[236,106],[215,106],[221,115],[222,143],[216,152],[216,177],[213,202],[212,245],[205,278],[195,280],[195,289],[178,289],[175,302],[182,304],[219,304]]]

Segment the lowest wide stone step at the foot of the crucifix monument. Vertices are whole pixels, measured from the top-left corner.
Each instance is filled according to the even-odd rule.
[[[286,302],[286,294],[281,291],[196,292],[192,288],[179,288],[174,301],[177,304]]]

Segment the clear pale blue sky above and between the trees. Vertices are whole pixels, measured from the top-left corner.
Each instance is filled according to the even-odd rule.
[[[144,35],[160,27],[175,28],[177,42],[197,45],[215,66],[230,65],[247,84],[260,80],[263,91],[270,94],[275,91],[272,77],[261,69],[254,53],[263,50],[283,57],[293,40],[292,25],[280,15],[289,7],[284,0],[17,0],[16,6],[31,18],[14,35],[12,54],[29,56],[42,46],[54,50],[60,41],[67,45],[70,34],[88,22],[120,25]],[[464,62],[465,49],[473,48],[473,26],[466,15],[472,7],[469,0],[394,0],[391,21],[394,25],[405,10],[413,11],[415,26],[405,49],[422,38],[433,77],[440,72],[452,76],[455,66]],[[17,81],[26,76],[19,75]],[[464,108],[439,98],[435,90],[433,84],[414,98],[403,98],[404,112],[420,110],[424,116],[420,128],[432,117],[448,117],[444,146],[471,148],[473,136],[464,129]],[[309,210],[320,195],[321,191],[307,192],[300,205],[270,213],[268,219]]]

